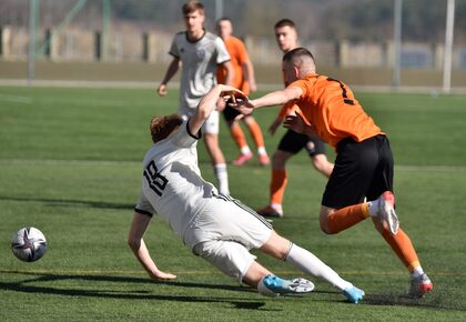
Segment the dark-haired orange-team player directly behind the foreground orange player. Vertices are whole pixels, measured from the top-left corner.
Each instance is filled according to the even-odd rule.
[[[282,19],[275,23],[275,38],[278,48],[283,53],[297,48],[297,30],[295,23],[290,19]],[[285,85],[287,85],[285,81]],[[280,111],[277,118],[269,128],[273,135],[287,113],[292,112],[294,103],[285,104]],[[257,210],[257,213],[264,217],[283,217],[283,197],[287,184],[286,162],[302,149],[306,149],[314,168],[330,177],[333,164],[328,162],[325,154],[325,143],[318,138],[287,130],[278,143],[277,149],[272,157],[272,178],[270,184],[270,203],[267,207]]]

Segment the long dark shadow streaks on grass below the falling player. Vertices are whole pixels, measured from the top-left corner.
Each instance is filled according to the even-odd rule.
[[[19,272],[19,274],[28,274]],[[83,290],[80,289],[63,289],[52,286],[37,286],[30,283],[40,282],[57,282],[57,281],[90,281],[90,282],[114,282],[114,283],[132,283],[132,284],[154,284],[154,285],[170,285],[179,288],[195,288],[195,289],[212,289],[212,290],[226,290],[226,291],[241,291],[241,292],[254,292],[249,288],[235,286],[235,285],[222,285],[222,284],[204,284],[204,283],[190,283],[190,282],[165,282],[165,281],[152,281],[142,278],[130,278],[130,276],[110,276],[110,275],[71,275],[71,274],[38,274],[30,273],[31,275],[39,275],[38,278],[27,279],[20,282],[0,282],[0,290],[22,292],[22,293],[39,293],[39,294],[55,294],[55,295],[68,295],[68,296],[89,296],[89,298],[102,298],[102,299],[123,299],[123,300],[160,300],[160,301],[179,301],[179,302],[196,302],[196,303],[229,303],[236,309],[243,310],[259,310],[262,311],[276,311],[274,309],[264,309],[265,302],[254,301],[253,299],[232,299],[232,298],[217,298],[217,296],[200,296],[200,295],[172,295],[172,294],[153,294],[151,291],[120,291],[120,290]]]

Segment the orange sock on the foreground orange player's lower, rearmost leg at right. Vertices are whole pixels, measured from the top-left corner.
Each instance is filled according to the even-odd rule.
[[[382,237],[398,255],[409,272],[412,272],[415,266],[419,265],[419,259],[417,258],[413,243],[402,229],[398,229],[398,233],[395,235],[391,234],[388,230],[384,230]]]

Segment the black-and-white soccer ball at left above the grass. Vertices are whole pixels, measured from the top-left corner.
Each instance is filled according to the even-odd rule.
[[[24,262],[40,260],[47,250],[47,240],[43,233],[33,227],[22,228],[13,235],[11,251]]]

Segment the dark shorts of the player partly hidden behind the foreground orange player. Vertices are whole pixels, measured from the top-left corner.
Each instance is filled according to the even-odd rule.
[[[278,150],[293,154],[296,154],[303,148],[306,149],[310,157],[325,154],[324,141],[300,134],[292,130],[287,130],[278,143]]]

